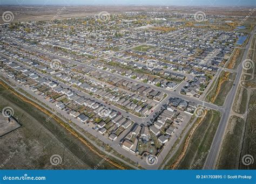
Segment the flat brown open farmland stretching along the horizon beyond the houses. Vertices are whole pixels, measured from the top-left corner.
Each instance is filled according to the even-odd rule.
[[[99,12],[107,11],[111,13],[118,12],[131,12],[131,11],[156,11],[156,9],[160,12],[183,12],[183,13],[195,13],[201,11],[202,8],[197,6],[170,6],[169,9],[165,9],[165,6],[152,6],[152,5],[118,5],[118,6],[106,6],[106,5],[23,5],[22,2],[19,5],[2,5],[0,9],[0,13],[2,15],[5,11],[11,11],[14,13],[14,22],[28,22],[28,21],[38,21],[38,20],[51,20],[53,17],[58,19],[65,18],[75,18],[75,17],[85,17],[90,15],[97,16]],[[63,9],[63,10],[62,10]],[[205,6],[204,12],[206,15],[226,15],[226,16],[247,16],[250,12],[249,8],[235,8],[232,9],[228,7],[221,8],[218,10],[214,7]],[[43,11],[42,11],[43,10]],[[62,11],[60,11],[62,10]],[[58,13],[60,12],[60,13]],[[58,14],[57,14],[58,13]],[[0,19],[0,23],[2,23],[2,19]]]

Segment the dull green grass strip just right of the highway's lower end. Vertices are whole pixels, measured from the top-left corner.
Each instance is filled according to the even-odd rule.
[[[244,120],[237,116],[230,117],[217,161],[217,169],[238,169],[244,123]]]

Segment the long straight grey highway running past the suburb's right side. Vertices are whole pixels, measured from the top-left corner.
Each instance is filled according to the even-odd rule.
[[[247,57],[247,54],[248,54],[248,51],[249,51],[249,48],[250,48],[250,44],[251,44],[252,39],[253,39],[254,31],[255,31],[255,27],[254,27],[254,30],[251,33],[251,38],[250,38],[250,40],[248,41],[248,43],[246,45],[246,50],[245,50],[244,56],[242,57],[242,61],[244,61]],[[230,93],[228,93],[227,98],[225,100],[225,103],[224,103],[224,106],[223,106],[223,109],[225,109],[225,111],[223,113],[223,116],[220,119],[218,129],[217,129],[217,131],[215,133],[215,136],[213,138],[212,145],[211,145],[211,148],[210,148],[210,152],[207,155],[207,158],[206,158],[206,161],[205,161],[204,169],[214,169],[215,168],[215,164],[216,164],[216,161],[217,161],[217,158],[218,158],[218,155],[219,155],[221,143],[222,143],[223,136],[224,136],[224,133],[225,133],[225,129],[226,129],[226,126],[227,126],[227,123],[228,123],[228,118],[230,117],[230,112],[231,112],[231,109],[233,107],[233,102],[234,102],[234,99],[235,99],[235,94],[237,93],[237,89],[238,89],[238,86],[239,86],[239,81],[241,79],[241,75],[242,75],[242,62],[240,63],[240,65],[237,68],[237,76],[235,77],[235,80],[234,80],[235,86],[233,86],[231,88]]]

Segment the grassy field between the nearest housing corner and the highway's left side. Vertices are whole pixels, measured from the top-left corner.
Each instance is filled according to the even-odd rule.
[[[197,121],[200,120],[198,119]],[[178,164],[176,169],[203,168],[208,149],[211,146],[219,121],[220,113],[218,111],[208,110],[201,122],[194,123],[194,125],[196,125],[197,123],[199,123],[199,125],[194,131],[192,137],[190,138],[189,144],[187,146],[187,151],[185,152],[183,159]],[[193,127],[194,126],[192,126],[191,130],[193,129]],[[179,147],[179,150],[167,163],[165,169],[170,169],[170,166],[174,164],[179,155],[183,152],[183,148],[185,145],[185,141],[188,138],[188,134],[186,135],[186,138],[184,139],[181,146]]]

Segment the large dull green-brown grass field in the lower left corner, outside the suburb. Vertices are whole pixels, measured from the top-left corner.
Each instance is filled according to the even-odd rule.
[[[1,157],[0,163],[17,150],[15,157],[4,165],[5,169],[93,169],[99,162],[103,164],[98,168],[115,168],[90,151],[53,118],[21,101],[2,86],[0,91],[1,109],[5,106],[12,107],[14,117],[22,124],[21,128],[1,138],[1,144],[5,145],[1,147],[6,158]],[[62,164],[51,165],[50,157],[53,154],[60,155]]]

